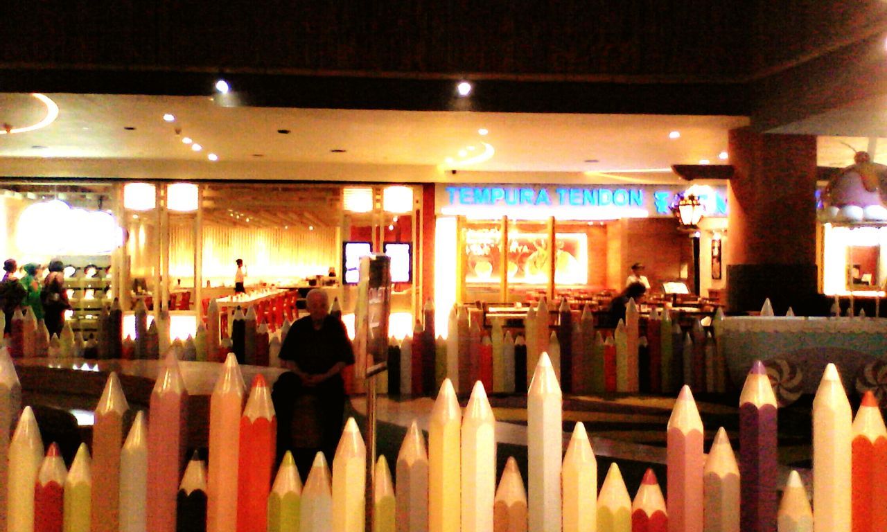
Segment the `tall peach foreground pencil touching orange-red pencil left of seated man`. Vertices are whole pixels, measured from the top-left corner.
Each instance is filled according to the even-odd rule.
[[[209,398],[209,532],[237,530],[238,468],[232,465],[240,461],[240,414],[245,387],[237,358],[229,353]]]

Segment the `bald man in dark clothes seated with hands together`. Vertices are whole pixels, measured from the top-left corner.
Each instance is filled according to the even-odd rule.
[[[289,372],[280,375],[272,399],[278,412],[278,454],[292,446],[290,426],[293,406],[299,395],[318,396],[321,449],[332,462],[341,438],[345,410],[345,383],[341,370],[354,364],[354,349],[345,325],[329,314],[329,298],[317,288],[305,296],[308,316],[293,324],[280,347],[280,363]],[[313,457],[313,453],[310,455]]]

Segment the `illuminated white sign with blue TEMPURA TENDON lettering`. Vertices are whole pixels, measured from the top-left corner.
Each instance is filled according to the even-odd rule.
[[[443,215],[573,220],[671,216],[675,195],[694,193],[707,216],[726,216],[726,186],[439,184],[436,193]]]

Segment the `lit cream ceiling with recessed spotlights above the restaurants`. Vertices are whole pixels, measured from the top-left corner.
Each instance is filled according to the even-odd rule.
[[[0,175],[443,182],[456,180],[449,173],[454,168],[477,181],[605,183],[631,176],[663,182],[678,179],[665,170],[672,164],[728,162],[718,160],[728,130],[749,124],[737,116],[299,109],[221,106],[209,97],[47,96],[59,106],[57,120],[0,135]],[[165,113],[176,120],[164,121]],[[781,132],[852,132],[834,126],[884,119],[834,113]],[[25,127],[45,114],[46,106],[28,94],[0,93],[0,125]],[[482,128],[489,134],[481,136]],[[670,138],[671,131],[680,137]],[[183,137],[203,149],[192,151]],[[489,160],[459,162],[488,151],[483,143],[494,151]],[[865,149],[868,140],[820,137],[820,166],[852,164],[843,143]],[[219,160],[208,160],[208,153]],[[887,142],[875,158],[887,162]]]

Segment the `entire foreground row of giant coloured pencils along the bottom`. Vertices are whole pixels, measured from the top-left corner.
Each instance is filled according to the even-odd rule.
[[[248,394],[233,354],[210,399],[208,466],[186,462],[188,394],[175,351],[161,364],[151,423],[138,412],[124,440],[129,406],[112,373],[95,411],[92,452],[82,445],[69,471],[44,449],[30,407],[20,411],[12,358],[0,349],[0,529],[9,532],[334,531],[365,528],[366,451],[349,419],[332,473],[318,453],[302,485],[293,459],[276,474],[276,419],[261,375]],[[813,506],[797,472],[777,508],[777,403],[756,363],[740,398],[737,462],[723,428],[708,456],[703,422],[682,387],[668,423],[664,501],[652,471],[632,499],[611,465],[600,492],[585,426],[563,453],[561,387],[549,356],[538,359],[527,393],[528,490],[514,458],[496,483],[496,420],[481,382],[467,407],[444,379],[428,419],[428,446],[413,422],[396,461],[375,464],[375,530],[424,532],[738,531],[849,532],[887,529],[887,429],[867,394],[856,420],[836,367],[813,401]],[[19,415],[20,413],[20,415]],[[193,420],[192,420],[193,421]],[[185,466],[186,465],[186,466]],[[183,472],[184,469],[184,472]]]

